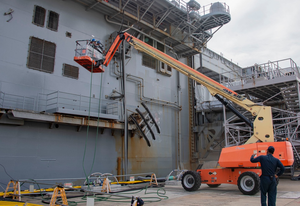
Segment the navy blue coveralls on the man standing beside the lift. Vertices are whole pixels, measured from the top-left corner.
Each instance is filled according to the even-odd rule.
[[[260,202],[262,206],[267,206],[266,200],[268,193],[268,206],[276,205],[276,193],[277,185],[275,179],[275,172],[277,167],[280,168],[280,171],[276,174],[280,176],[285,171],[285,167],[280,162],[279,159],[273,157],[271,154],[260,155],[256,158],[253,155],[250,158],[252,163],[260,162],[262,175],[260,176]]]

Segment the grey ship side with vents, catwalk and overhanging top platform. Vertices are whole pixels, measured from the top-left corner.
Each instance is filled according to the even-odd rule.
[[[13,19],[1,22],[0,156],[7,173],[18,179],[84,177],[84,167],[123,174],[124,161],[128,174],[165,176],[191,167],[187,77],[127,48],[128,116],[137,108],[145,113],[144,103],[161,133],[152,128],[156,139],[149,138],[149,147],[130,121],[125,155],[119,56],[103,73],[73,61],[77,40],[97,39],[107,49],[121,28],[187,64],[211,29],[230,21],[226,4],[201,10],[191,2],[1,1],[3,13],[14,10]]]

